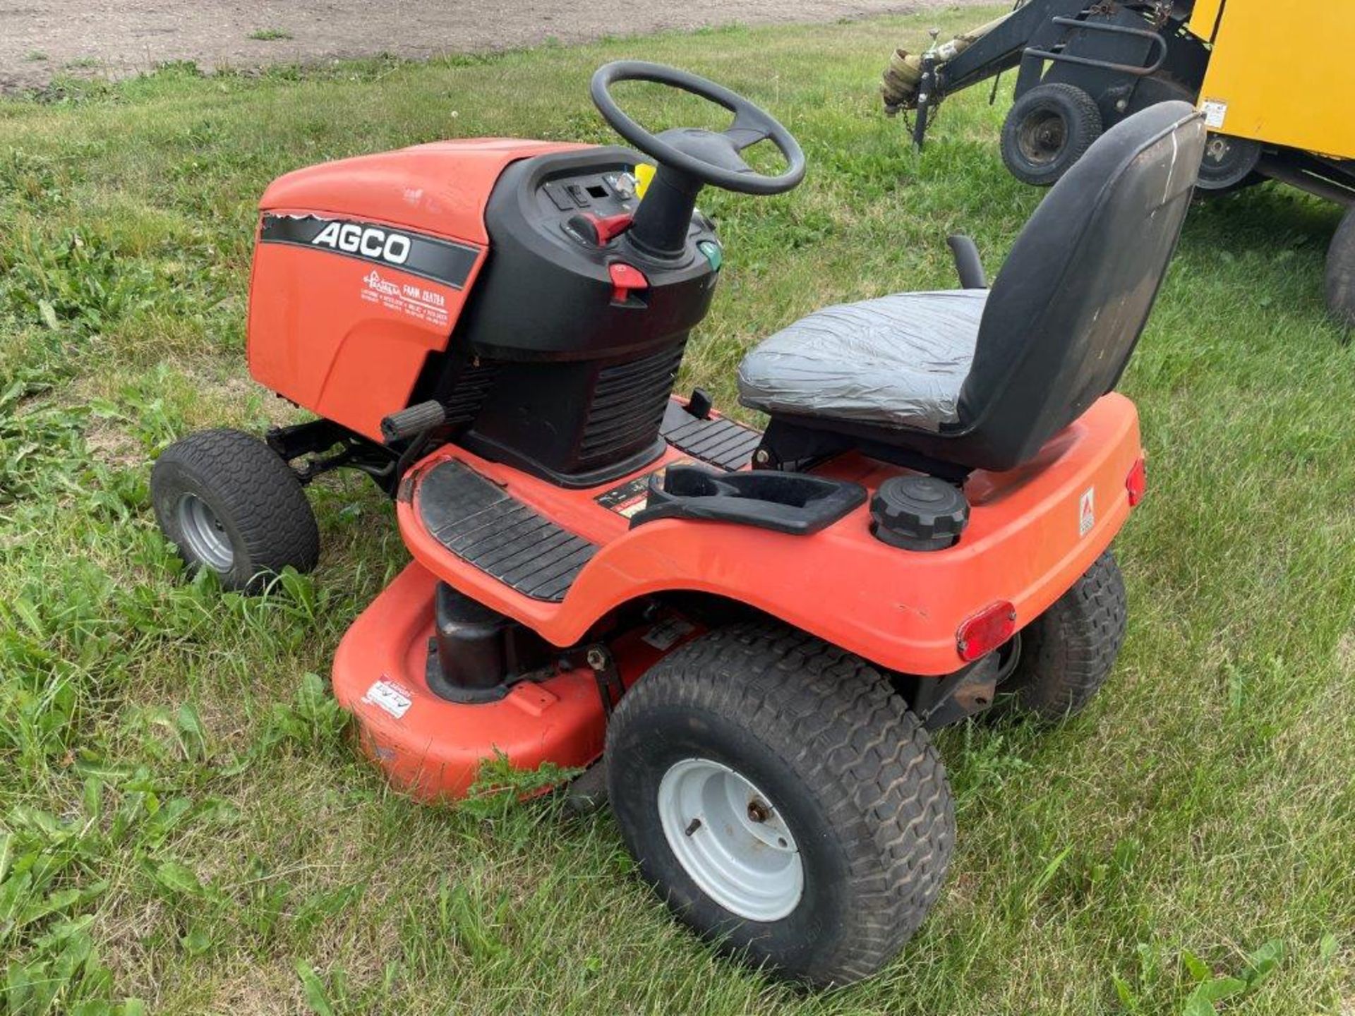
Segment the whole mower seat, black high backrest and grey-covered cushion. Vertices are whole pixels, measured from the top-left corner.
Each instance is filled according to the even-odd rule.
[[[827,308],[738,368],[771,416],[760,462],[846,448],[938,475],[1012,469],[1119,381],[1190,206],[1205,123],[1187,103],[1107,130],[1050,190],[992,290]]]

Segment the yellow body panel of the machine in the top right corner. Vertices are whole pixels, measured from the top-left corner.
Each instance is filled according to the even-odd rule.
[[[1190,31],[1211,46],[1199,93],[1211,130],[1355,158],[1355,4],[1196,0]]]

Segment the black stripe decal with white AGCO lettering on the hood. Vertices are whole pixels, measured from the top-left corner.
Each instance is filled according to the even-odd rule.
[[[480,257],[480,248],[470,244],[439,240],[377,222],[320,215],[264,213],[259,241],[309,247],[373,264],[385,264],[458,290],[466,284],[470,270]]]

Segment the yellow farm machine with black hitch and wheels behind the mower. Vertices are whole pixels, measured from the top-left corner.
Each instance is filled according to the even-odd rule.
[[[934,33],[935,37],[935,33]],[[897,50],[886,112],[1016,69],[1003,160],[1050,184],[1106,127],[1165,99],[1210,129],[1199,188],[1275,179],[1355,207],[1355,0],[1020,0],[1007,16],[920,53]],[[1332,312],[1355,325],[1355,210],[1327,259]]]

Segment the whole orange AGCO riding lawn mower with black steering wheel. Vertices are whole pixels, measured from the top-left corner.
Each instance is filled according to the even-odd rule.
[[[646,130],[621,81],[724,131]],[[928,730],[1081,708],[1125,633],[1111,541],[1144,497],[1114,391],[1205,150],[1180,102],[1107,130],[988,287],[825,308],[738,370],[755,429],[673,397],[724,251],[702,187],[790,191],[795,138],[718,84],[622,61],[592,99],[633,149],[446,141],[299,169],[260,203],[251,374],[316,419],[192,433],[152,473],[196,569],[316,565],[305,486],[367,473],[412,562],[333,690],[413,798],[481,764],[581,769],[702,936],[816,985],[889,962],[954,843]],[[743,152],[771,142],[785,168]],[[656,165],[646,188],[637,169]],[[648,171],[641,176],[648,176]]]

